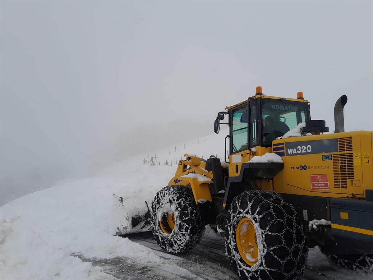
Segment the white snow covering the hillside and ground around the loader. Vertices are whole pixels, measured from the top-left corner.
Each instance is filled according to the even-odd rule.
[[[112,194],[120,194],[132,204],[151,202],[174,176],[175,163],[185,153],[203,152],[204,158],[216,154],[223,160],[227,133],[222,130],[219,135],[195,139],[193,144],[177,144],[176,149],[170,147],[170,153],[168,148],[157,151],[160,165],[144,164],[148,155],[138,155],[101,170],[94,178],[55,185],[4,205],[0,208],[0,279],[115,279],[88,260],[121,257],[162,267],[171,275],[175,271],[187,275],[188,270],[176,265],[175,259],[112,235]],[[163,164],[166,160],[168,165]],[[325,262],[318,249],[310,251],[308,268],[317,270]],[[372,271],[346,273],[352,277],[349,279],[373,278]]]

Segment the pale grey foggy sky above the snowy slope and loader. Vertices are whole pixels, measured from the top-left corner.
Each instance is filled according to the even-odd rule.
[[[3,0],[0,181],[47,187],[211,134],[256,86],[303,91],[330,131],[346,94],[346,130],[372,130],[372,19],[372,1]]]

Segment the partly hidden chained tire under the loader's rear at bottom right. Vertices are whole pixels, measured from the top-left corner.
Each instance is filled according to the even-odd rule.
[[[325,254],[323,246],[319,246],[320,251],[326,255],[336,265],[339,267],[347,268],[350,270],[357,269],[369,269],[373,267],[373,254],[364,255],[329,255]]]

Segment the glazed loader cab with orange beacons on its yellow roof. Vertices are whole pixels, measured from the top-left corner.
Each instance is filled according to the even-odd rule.
[[[215,120],[214,131],[218,133],[220,120],[228,114],[229,149],[225,150],[230,155],[243,155],[246,150],[254,150],[256,155],[272,152],[273,140],[310,120],[308,101],[303,94],[298,93],[298,98],[293,99],[263,95],[261,88],[259,91],[247,101],[227,107]]]

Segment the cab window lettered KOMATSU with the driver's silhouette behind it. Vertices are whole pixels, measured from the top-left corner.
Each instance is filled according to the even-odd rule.
[[[272,141],[277,137],[309,119],[308,104],[266,100],[262,106],[263,144],[272,145]]]

